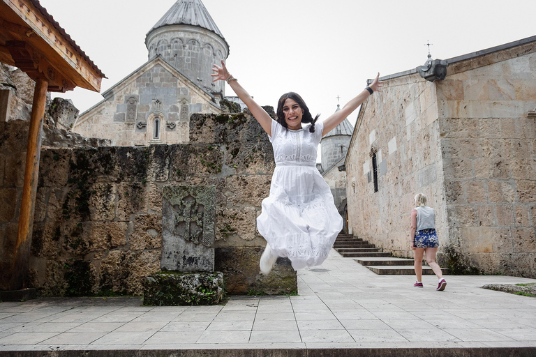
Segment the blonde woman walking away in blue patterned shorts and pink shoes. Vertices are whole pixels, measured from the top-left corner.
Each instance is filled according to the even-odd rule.
[[[445,290],[447,282],[443,279],[440,266],[435,262],[438,252],[439,239],[435,232],[435,211],[426,206],[426,196],[422,193],[415,195],[415,205],[411,210],[410,243],[415,255],[415,275],[417,282],[414,287],[422,287],[422,256],[426,252],[426,263],[438,277],[438,287],[435,290]]]

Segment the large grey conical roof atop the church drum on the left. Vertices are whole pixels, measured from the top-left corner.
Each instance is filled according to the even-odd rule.
[[[159,27],[168,25],[199,26],[203,29],[212,31],[223,38],[223,34],[220,29],[218,29],[218,26],[216,26],[216,22],[212,20],[212,17],[201,0],[178,0],[164,16],[156,22],[149,33]]]

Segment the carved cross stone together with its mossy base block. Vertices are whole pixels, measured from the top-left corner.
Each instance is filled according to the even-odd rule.
[[[223,273],[214,272],[216,186],[165,186],[162,271],[144,284],[144,305],[214,305]]]

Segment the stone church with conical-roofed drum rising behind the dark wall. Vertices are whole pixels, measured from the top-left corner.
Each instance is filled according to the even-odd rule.
[[[147,33],[149,60],[80,114],[73,132],[117,146],[188,142],[194,113],[220,114],[223,81],[211,68],[229,45],[200,0],[179,0]]]

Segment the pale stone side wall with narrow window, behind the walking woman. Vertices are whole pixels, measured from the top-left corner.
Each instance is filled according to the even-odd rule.
[[[435,102],[434,84],[419,75],[387,80],[359,112],[345,161],[349,229],[399,257],[412,256],[410,212],[417,192],[429,197],[438,233],[448,236]],[[378,192],[371,151],[378,159]]]

